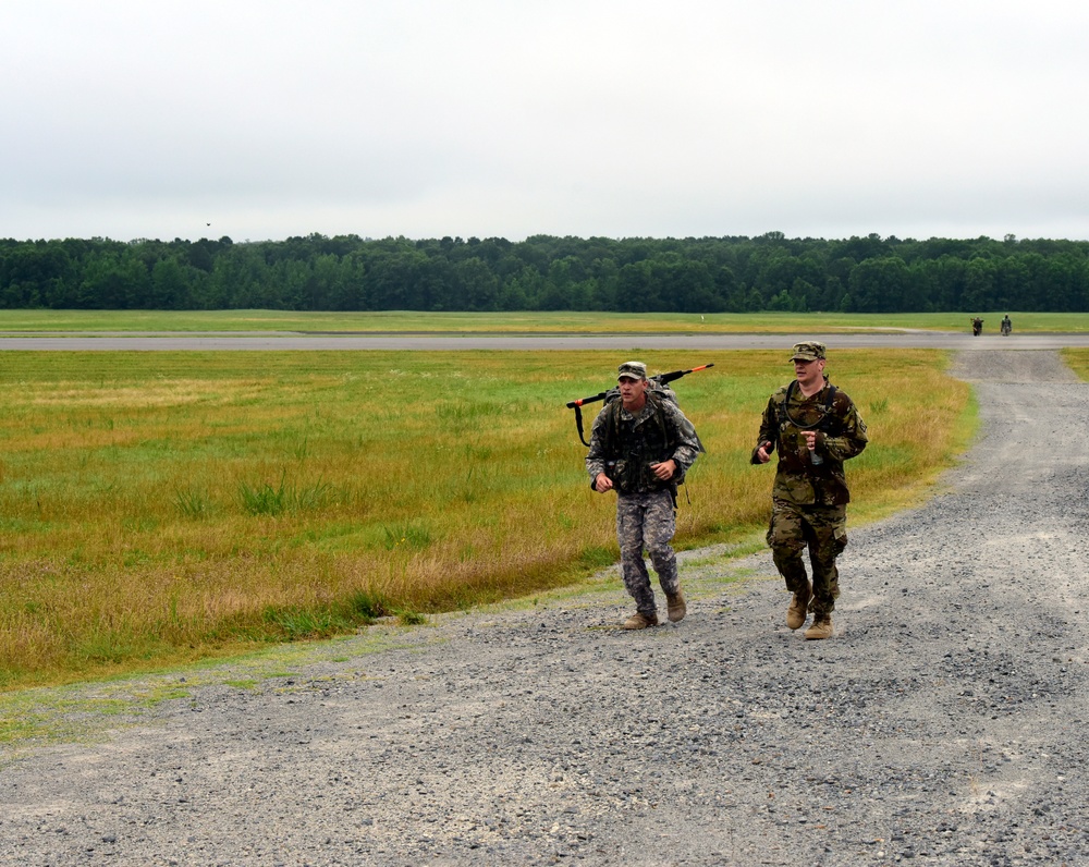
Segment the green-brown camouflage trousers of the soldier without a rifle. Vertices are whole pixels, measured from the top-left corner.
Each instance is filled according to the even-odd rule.
[[[802,552],[809,549],[813,573],[809,610],[815,616],[831,614],[840,595],[835,558],[847,547],[847,506],[795,505],[772,500],[768,545],[791,593],[804,593],[809,583],[802,559]]]

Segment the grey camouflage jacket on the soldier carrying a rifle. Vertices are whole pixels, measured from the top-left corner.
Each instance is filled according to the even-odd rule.
[[[602,407],[594,419],[586,472],[590,486],[600,473],[613,480],[619,493],[675,489],[703,450],[696,428],[671,400],[647,392],[647,403],[632,415],[619,401]],[[650,464],[673,460],[671,481],[661,481]]]

